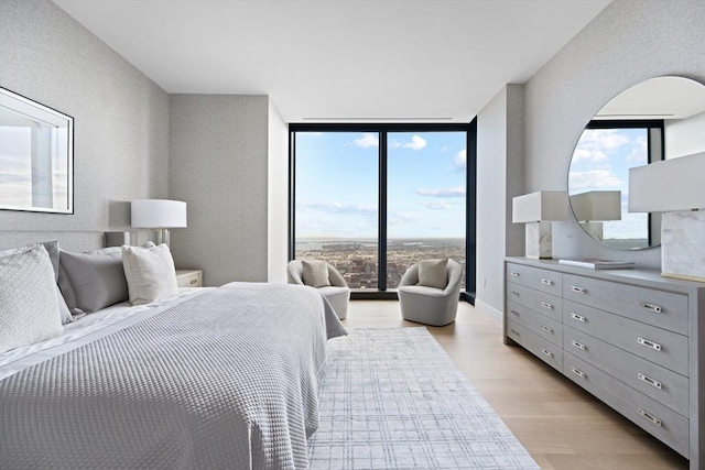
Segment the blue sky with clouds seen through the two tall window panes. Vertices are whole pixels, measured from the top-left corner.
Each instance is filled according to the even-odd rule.
[[[465,237],[465,132],[388,133],[388,237]],[[379,134],[296,133],[296,237],[376,238]]]

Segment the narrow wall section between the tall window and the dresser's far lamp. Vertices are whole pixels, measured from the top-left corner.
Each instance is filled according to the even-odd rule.
[[[523,226],[511,223],[522,194],[523,86],[508,85],[477,117],[476,307],[502,311],[505,256],[523,253]]]

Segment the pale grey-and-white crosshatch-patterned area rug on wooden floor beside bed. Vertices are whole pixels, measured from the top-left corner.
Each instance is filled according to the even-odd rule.
[[[311,469],[539,469],[425,328],[328,341]]]

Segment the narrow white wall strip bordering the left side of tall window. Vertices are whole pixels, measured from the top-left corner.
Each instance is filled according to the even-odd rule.
[[[267,253],[268,282],[286,283],[289,262],[289,127],[269,101]]]

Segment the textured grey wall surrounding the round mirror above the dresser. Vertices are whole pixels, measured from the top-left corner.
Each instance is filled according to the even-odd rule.
[[[614,0],[525,84],[527,193],[565,188],[573,149],[595,112],[626,88],[677,75],[705,83],[705,2]],[[660,249],[603,248],[575,221],[554,223],[557,258],[660,269]]]

